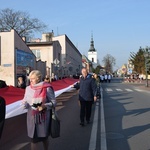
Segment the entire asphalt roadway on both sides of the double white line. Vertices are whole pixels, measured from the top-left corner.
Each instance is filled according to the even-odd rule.
[[[85,127],[79,125],[78,92],[61,94],[56,107],[61,120],[61,136],[49,137],[49,149],[150,150],[150,91],[141,87],[141,84],[122,83],[120,78],[102,83],[102,98],[93,105],[92,122]],[[38,147],[42,150],[42,143]],[[0,149],[30,149],[26,114],[6,120]]]

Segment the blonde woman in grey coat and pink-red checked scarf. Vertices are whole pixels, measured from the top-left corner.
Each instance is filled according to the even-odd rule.
[[[27,109],[27,132],[31,138],[31,149],[37,150],[37,143],[43,142],[44,150],[48,150],[48,136],[52,107],[56,99],[50,83],[41,81],[42,74],[33,70],[29,74],[30,85],[26,87],[23,98]]]

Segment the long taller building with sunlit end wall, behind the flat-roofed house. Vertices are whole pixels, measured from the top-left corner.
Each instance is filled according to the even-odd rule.
[[[80,73],[82,68],[82,55],[79,50],[74,46],[67,35],[54,36],[52,33],[42,34],[42,41],[59,41],[61,45],[61,66],[58,69],[61,70],[63,76],[72,76]]]

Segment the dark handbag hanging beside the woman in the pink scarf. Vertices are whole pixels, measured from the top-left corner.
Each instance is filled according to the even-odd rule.
[[[52,138],[58,138],[60,137],[60,120],[55,111],[55,108],[52,108],[51,112],[52,115],[51,115],[50,135]]]

